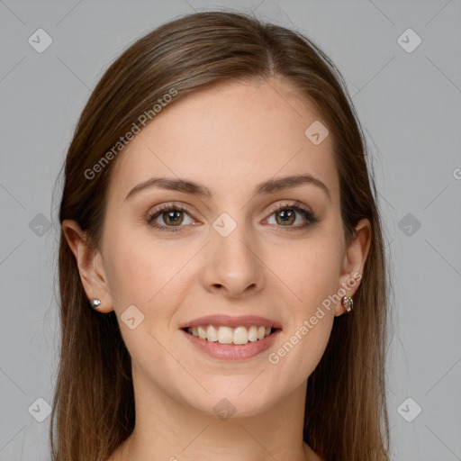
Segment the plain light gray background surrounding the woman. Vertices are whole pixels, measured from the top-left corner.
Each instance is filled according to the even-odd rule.
[[[59,346],[53,185],[77,117],[132,41],[216,6],[253,8],[307,34],[345,77],[393,262],[393,460],[461,459],[459,0],[0,0],[0,461],[49,459],[50,417],[37,399],[51,402]],[[39,28],[52,38],[41,53],[28,42]],[[422,40],[411,52],[402,48],[416,43],[402,35],[408,28]]]

